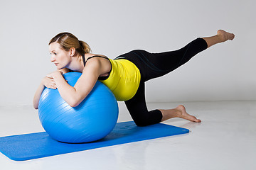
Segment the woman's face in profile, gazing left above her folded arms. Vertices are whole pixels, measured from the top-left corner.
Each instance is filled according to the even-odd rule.
[[[70,63],[69,52],[61,49],[58,42],[50,43],[49,51],[51,55],[50,61],[55,64],[57,69],[63,69],[68,66]]]

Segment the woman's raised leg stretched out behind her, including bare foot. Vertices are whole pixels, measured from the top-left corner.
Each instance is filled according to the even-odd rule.
[[[145,81],[156,77],[164,76],[174,69],[181,67],[191,60],[199,52],[206,50],[208,47],[226,40],[233,40],[235,35],[227,33],[224,30],[218,30],[217,35],[207,38],[197,38],[188,43],[179,50],[150,53],[142,50],[132,52],[134,58],[142,60],[142,78]]]

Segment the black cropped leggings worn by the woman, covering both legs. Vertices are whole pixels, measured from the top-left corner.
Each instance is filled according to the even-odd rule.
[[[158,109],[148,111],[146,107],[145,82],[168,74],[206,48],[206,41],[203,38],[197,38],[180,50],[161,53],[133,50],[115,59],[125,58],[133,62],[139,68],[142,76],[137,93],[129,101],[124,101],[137,126],[160,123],[162,119],[161,111]]]

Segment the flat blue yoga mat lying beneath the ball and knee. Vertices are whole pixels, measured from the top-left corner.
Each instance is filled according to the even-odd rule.
[[[131,121],[117,123],[114,130],[102,140],[82,144],[58,142],[53,140],[46,132],[0,137],[0,152],[12,160],[25,161],[87,149],[180,135],[188,132],[188,129],[162,123],[146,127],[137,127],[137,125]]]

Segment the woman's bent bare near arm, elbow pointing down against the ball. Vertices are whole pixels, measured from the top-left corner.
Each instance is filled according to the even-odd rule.
[[[78,106],[85,97],[90,94],[96,81],[101,73],[101,63],[99,60],[89,60],[86,67],[82,71],[81,77],[78,79],[75,86],[70,86],[60,72],[53,72],[50,76],[53,77],[58,88],[60,96],[71,107]]]

